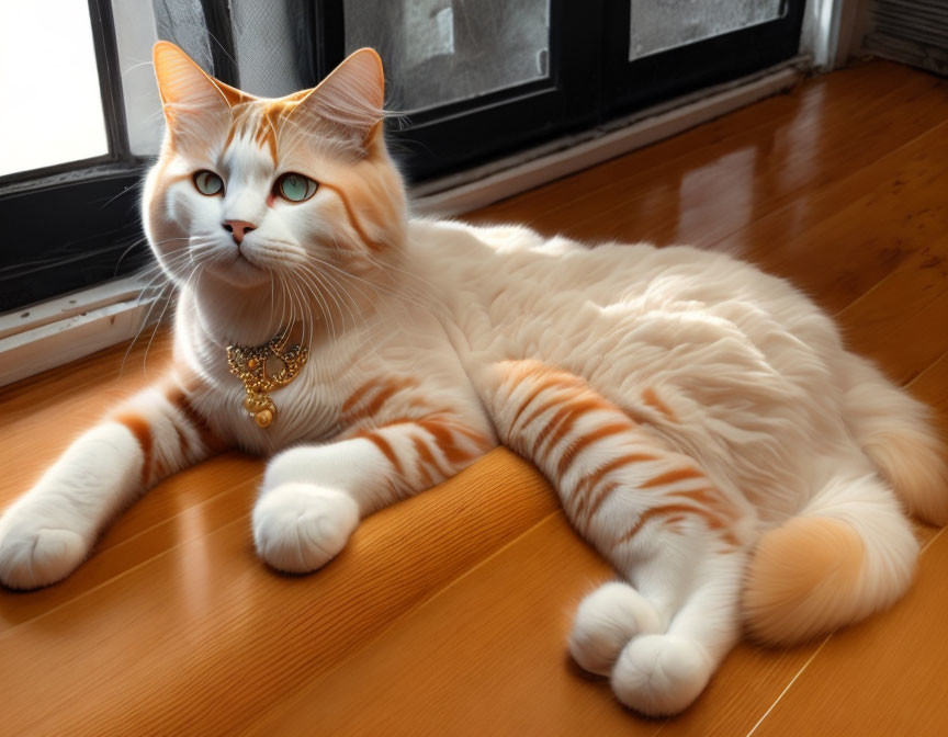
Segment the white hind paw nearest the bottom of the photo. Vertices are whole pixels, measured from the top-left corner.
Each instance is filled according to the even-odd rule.
[[[616,661],[612,690],[636,712],[669,716],[687,708],[710,678],[711,662],[697,643],[673,635],[642,635]]]

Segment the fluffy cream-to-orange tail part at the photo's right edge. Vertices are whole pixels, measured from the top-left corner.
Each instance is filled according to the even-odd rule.
[[[851,356],[845,417],[862,452],[912,514],[948,524],[948,454],[929,410],[871,363]]]

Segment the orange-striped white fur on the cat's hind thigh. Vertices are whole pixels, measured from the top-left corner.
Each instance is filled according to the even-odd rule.
[[[677,523],[689,517],[725,545],[740,544],[730,531],[737,514],[706,474],[580,377],[535,361],[507,362],[500,372],[498,401],[515,408],[509,422],[500,423],[501,439],[550,476],[584,534],[589,535],[603,503],[619,494],[634,495],[642,511],[609,541],[611,548],[632,540],[651,520],[679,531]],[[653,389],[645,388],[642,397],[643,404],[674,417]]]

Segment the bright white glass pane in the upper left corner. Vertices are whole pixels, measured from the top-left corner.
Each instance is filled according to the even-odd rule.
[[[0,175],[109,152],[87,2],[0,2]]]

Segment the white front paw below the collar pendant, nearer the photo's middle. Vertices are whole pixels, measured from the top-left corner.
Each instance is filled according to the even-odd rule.
[[[359,524],[356,500],[315,484],[283,484],[253,508],[257,552],[278,570],[305,574],[326,565]]]

